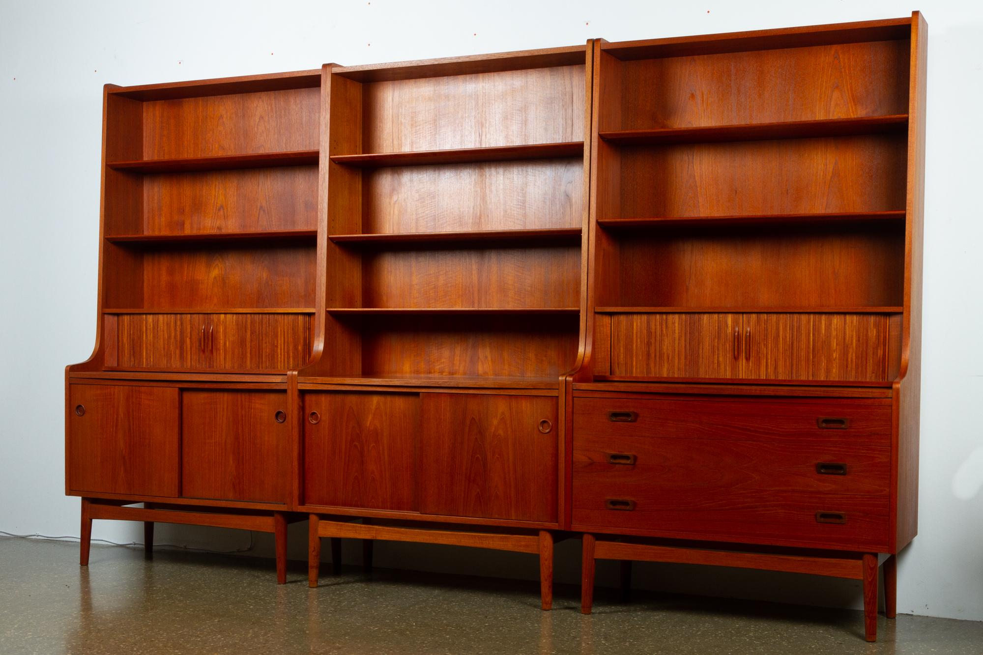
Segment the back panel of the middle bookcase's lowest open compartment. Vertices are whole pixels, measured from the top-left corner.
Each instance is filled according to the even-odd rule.
[[[364,375],[559,376],[577,356],[578,318],[397,317],[362,331]]]

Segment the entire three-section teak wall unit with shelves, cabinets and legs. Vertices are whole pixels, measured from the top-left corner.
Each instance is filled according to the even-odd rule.
[[[916,533],[926,25],[105,90],[93,518],[861,579]],[[143,504],[142,507],[138,506]]]

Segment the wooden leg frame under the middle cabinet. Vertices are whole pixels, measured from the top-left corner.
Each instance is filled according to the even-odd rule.
[[[320,539],[331,538],[331,557],[334,572],[340,570],[341,539],[362,539],[365,564],[372,567],[372,542],[404,541],[424,544],[444,544],[449,546],[468,546],[471,548],[487,548],[497,551],[512,551],[529,553],[540,556],[540,599],[544,610],[552,608],[552,568],[553,568],[553,533],[549,530],[538,530],[536,533],[514,532],[478,532],[411,525],[376,525],[370,522],[346,522],[324,518],[319,514],[310,516],[308,584],[318,586],[320,570]],[[353,517],[354,520],[355,517]]]

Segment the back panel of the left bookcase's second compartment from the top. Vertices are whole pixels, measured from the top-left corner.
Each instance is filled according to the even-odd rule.
[[[318,167],[145,175],[143,214],[146,234],[315,229]]]

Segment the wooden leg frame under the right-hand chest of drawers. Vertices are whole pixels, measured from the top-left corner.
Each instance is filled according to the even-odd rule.
[[[773,552],[774,551],[774,552]],[[885,615],[896,617],[897,564],[895,555],[877,553],[844,553],[831,551],[828,555],[793,550],[769,552],[739,552],[690,546],[637,543],[598,539],[583,535],[583,564],[581,567],[580,612],[590,614],[594,604],[595,563],[598,560],[621,562],[621,596],[627,598],[631,584],[631,562],[665,562],[756,568],[790,573],[809,573],[863,581],[864,637],[877,640],[877,601],[880,566],[884,565]]]

